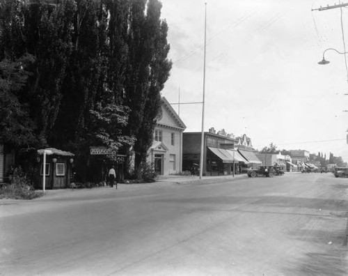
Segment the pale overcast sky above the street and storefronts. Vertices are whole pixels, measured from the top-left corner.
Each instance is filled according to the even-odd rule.
[[[348,82],[338,0],[162,0],[169,26],[168,102],[203,99],[205,128],[251,137],[254,148],[329,152],[348,161]],[[348,8],[342,8],[348,51]],[[348,59],[348,55],[347,55]],[[180,91],[180,92],[179,92]],[[179,112],[177,105],[174,109]],[[180,105],[186,132],[200,132],[202,105]]]

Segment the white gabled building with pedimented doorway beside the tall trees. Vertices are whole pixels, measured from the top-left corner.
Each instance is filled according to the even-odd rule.
[[[157,120],[154,141],[148,151],[157,175],[182,172],[182,132],[186,125],[177,115],[166,98],[161,99],[161,114]]]

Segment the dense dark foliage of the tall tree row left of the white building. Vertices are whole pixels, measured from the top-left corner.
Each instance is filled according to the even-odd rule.
[[[72,151],[85,178],[90,146],[133,146],[140,176],[171,70],[160,16],[158,0],[1,1],[0,141]]]

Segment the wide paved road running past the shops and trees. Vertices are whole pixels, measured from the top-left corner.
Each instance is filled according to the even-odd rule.
[[[0,275],[347,275],[347,178],[66,190],[0,201]]]

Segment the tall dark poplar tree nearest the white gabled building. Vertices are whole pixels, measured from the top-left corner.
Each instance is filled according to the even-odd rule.
[[[127,133],[136,137],[134,163],[137,175],[140,175],[141,163],[145,161],[152,144],[161,105],[160,91],[164,88],[172,66],[167,59],[168,26],[160,19],[160,15],[159,1],[132,1],[125,103],[131,109]]]

